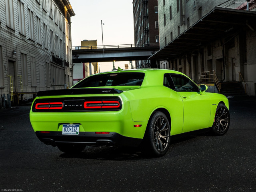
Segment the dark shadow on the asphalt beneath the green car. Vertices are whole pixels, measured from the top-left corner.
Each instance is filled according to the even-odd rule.
[[[172,144],[177,144],[180,142],[188,141],[190,139],[196,138],[198,136],[185,136],[182,138],[174,138],[170,141],[170,147]],[[168,152],[167,152],[168,153]],[[168,155],[168,154],[166,154]],[[112,146],[99,146],[91,147],[86,146],[86,148],[79,154],[60,154],[61,158],[80,158],[80,159],[95,159],[95,160],[146,160],[152,157],[144,155],[140,148],[132,147],[112,147]]]

